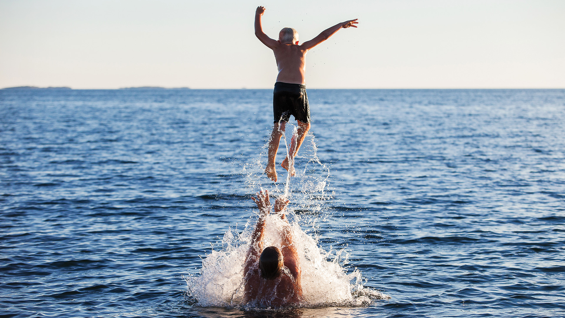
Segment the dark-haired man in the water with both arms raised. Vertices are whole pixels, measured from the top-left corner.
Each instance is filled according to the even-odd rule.
[[[284,307],[302,302],[300,260],[292,237],[292,229],[285,214],[289,200],[275,200],[274,212],[285,221],[281,233],[281,247],[263,249],[265,220],[271,213],[268,191],[252,197],[259,208],[259,220],[251,234],[251,244],[244,264],[244,302],[258,307]]]

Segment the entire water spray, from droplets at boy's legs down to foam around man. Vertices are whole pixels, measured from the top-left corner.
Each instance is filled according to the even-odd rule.
[[[294,152],[292,138],[296,137],[297,131],[296,127],[289,129],[288,125],[286,134],[290,131],[290,143],[287,142],[286,134],[283,135],[287,155]],[[333,198],[334,191],[327,188],[329,168],[320,162],[316,149],[314,135],[308,134],[297,162],[293,156],[288,156],[289,170],[295,169],[295,177],[287,175],[284,186],[280,183],[261,182],[266,179],[263,169],[267,145],[263,147],[259,158],[242,167],[249,193],[267,188],[272,194],[288,197],[291,201],[287,217],[292,226],[298,255],[301,256],[302,291],[305,299],[301,307],[365,306],[373,299],[390,298],[380,291],[363,286],[362,273],[357,268],[347,271],[345,266],[349,255],[345,250],[334,251],[330,248],[325,251],[319,247],[317,235],[309,235],[302,230],[315,233],[316,220],[331,213],[327,202]],[[202,259],[199,275],[185,277],[189,296],[199,306],[244,306],[243,265],[258,218],[257,214],[251,213],[252,216],[241,233],[229,229],[221,242],[221,250],[212,251]],[[279,233],[282,222],[276,215],[267,217],[263,246],[281,246]]]

